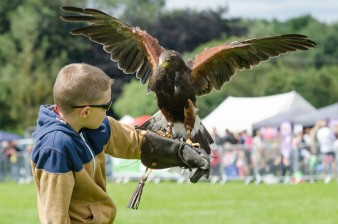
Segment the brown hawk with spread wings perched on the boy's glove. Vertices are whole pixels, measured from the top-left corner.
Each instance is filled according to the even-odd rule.
[[[61,16],[62,20],[89,23],[70,31],[71,34],[87,36],[103,45],[119,69],[126,74],[136,73],[142,84],[148,84],[148,91],[155,92],[159,112],[144,127],[164,130],[167,136],[188,143],[199,143],[209,153],[213,140],[196,114],[196,97],[220,90],[238,70],[317,45],[299,34],[268,36],[226,42],[205,49],[186,63],[178,52],[165,49],[139,27],[131,27],[96,9],[61,9],[75,13]]]

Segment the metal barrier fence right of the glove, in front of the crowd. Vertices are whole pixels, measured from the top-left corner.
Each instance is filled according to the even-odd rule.
[[[211,182],[243,180],[249,183],[330,182],[337,178],[335,153],[321,154],[318,145],[290,146],[287,153],[279,143],[261,147],[242,144],[217,145],[212,152]]]

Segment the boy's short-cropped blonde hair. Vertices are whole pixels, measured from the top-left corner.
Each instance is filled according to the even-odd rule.
[[[61,111],[69,112],[72,106],[96,103],[112,84],[113,80],[97,67],[69,64],[56,77],[54,102]]]

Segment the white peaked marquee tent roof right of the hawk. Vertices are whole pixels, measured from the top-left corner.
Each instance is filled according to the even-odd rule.
[[[225,129],[243,131],[252,129],[252,124],[279,113],[302,110],[315,111],[308,101],[295,91],[264,97],[228,97],[202,122],[211,131]]]

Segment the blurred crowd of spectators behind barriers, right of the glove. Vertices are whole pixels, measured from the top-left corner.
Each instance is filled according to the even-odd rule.
[[[302,175],[325,178],[337,175],[338,131],[319,120],[313,127],[262,128],[223,134],[213,129],[216,147],[212,150],[211,176],[261,178]]]

